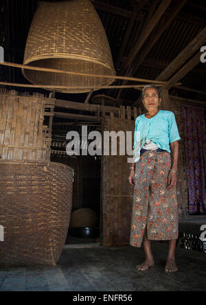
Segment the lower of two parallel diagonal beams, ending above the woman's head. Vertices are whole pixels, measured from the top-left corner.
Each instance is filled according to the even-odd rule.
[[[201,63],[201,52],[198,52],[180,71],[178,71],[169,81],[163,89],[170,89],[176,82],[181,80],[188,72],[190,72],[198,63]]]

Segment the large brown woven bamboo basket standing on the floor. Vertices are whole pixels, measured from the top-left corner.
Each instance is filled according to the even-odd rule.
[[[60,163],[0,161],[0,265],[58,262],[69,227],[72,179],[72,169]]]

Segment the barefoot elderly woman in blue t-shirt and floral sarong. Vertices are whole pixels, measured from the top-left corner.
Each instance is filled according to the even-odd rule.
[[[135,162],[129,177],[135,186],[130,245],[141,247],[143,243],[146,260],[137,269],[145,271],[154,265],[150,240],[169,240],[165,271],[174,272],[178,270],[176,174],[181,138],[174,113],[159,110],[161,95],[156,86],[144,87],[142,102],[147,112],[135,121]]]

